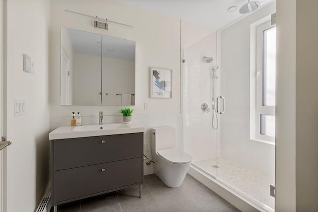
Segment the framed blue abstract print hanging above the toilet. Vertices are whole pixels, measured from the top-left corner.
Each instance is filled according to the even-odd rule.
[[[172,98],[172,70],[150,68],[150,98]]]

